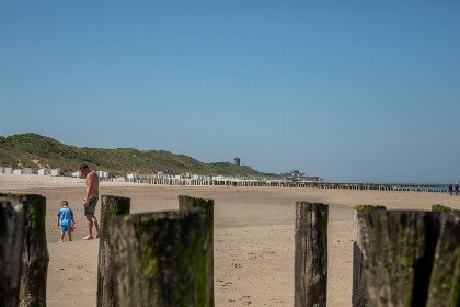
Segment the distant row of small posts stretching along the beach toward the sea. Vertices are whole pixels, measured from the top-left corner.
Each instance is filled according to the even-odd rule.
[[[273,187],[313,187],[313,189],[344,189],[344,190],[379,190],[379,191],[418,191],[418,192],[446,192],[442,185],[395,185],[395,184],[368,184],[368,183],[330,183],[306,182],[288,180],[198,180],[198,179],[135,179],[125,177],[125,182],[148,183],[160,185],[220,185],[220,186],[273,186]]]

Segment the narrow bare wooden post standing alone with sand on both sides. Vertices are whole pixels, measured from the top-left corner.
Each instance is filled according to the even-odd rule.
[[[329,206],[296,203],[294,306],[326,306]]]

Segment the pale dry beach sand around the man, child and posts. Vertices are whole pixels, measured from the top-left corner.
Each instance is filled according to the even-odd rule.
[[[84,180],[0,174],[0,192],[46,196],[49,268],[47,306],[95,306],[99,240],[87,235]],[[131,198],[131,213],[176,209],[177,195],[215,200],[216,306],[292,306],[296,201],[330,205],[327,306],[352,305],[353,207],[429,211],[433,204],[460,208],[447,193],[279,187],[162,186],[101,182],[101,195]],[[77,221],[74,241],[58,243],[56,214],[69,201]],[[100,203],[96,217],[99,217]]]

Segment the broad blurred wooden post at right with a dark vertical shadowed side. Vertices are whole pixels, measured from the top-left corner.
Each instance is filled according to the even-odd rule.
[[[439,213],[358,215],[368,306],[425,306]]]

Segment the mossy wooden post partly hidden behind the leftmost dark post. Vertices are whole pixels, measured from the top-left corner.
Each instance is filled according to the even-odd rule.
[[[48,247],[46,242],[46,197],[37,194],[9,194],[24,203],[25,234],[22,251],[19,306],[46,306]]]

